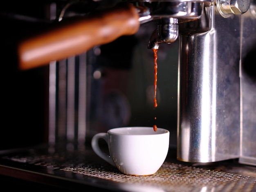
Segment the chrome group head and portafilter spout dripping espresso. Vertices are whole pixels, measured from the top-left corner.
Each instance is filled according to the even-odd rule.
[[[178,20],[184,22],[184,20],[200,18],[204,9],[204,2],[210,3],[212,0],[130,2],[133,2],[137,7],[141,24],[151,20],[157,23],[157,29],[153,31],[150,37],[148,49],[158,49],[162,42],[172,43],[177,39],[179,33]]]

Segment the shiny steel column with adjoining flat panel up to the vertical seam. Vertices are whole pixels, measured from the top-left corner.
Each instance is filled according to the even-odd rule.
[[[182,161],[239,156],[239,18],[230,22],[213,6],[205,13],[213,18],[210,31],[180,36],[177,158]]]

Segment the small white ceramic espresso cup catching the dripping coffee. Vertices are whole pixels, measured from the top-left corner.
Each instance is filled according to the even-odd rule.
[[[99,147],[99,139],[108,144],[110,154]],[[169,149],[170,132],[153,127],[119,127],[98,133],[92,138],[92,149],[120,172],[128,175],[152,175],[164,163]]]

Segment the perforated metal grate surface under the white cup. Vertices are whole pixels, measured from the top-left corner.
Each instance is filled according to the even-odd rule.
[[[27,155],[4,155],[2,160],[25,164],[26,170],[64,176],[79,182],[88,178],[90,181],[103,181],[101,183],[113,185],[117,190],[129,192],[256,192],[256,168],[249,167],[252,174],[232,173],[226,171],[230,164],[223,163],[220,167],[215,164],[214,167],[204,167],[166,159],[154,175],[130,176],[122,174],[91,151],[46,155],[32,151]],[[232,169],[236,167],[230,166]]]

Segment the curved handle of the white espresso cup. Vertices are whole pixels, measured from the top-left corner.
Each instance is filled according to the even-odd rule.
[[[113,163],[111,156],[107,155],[106,153],[104,153],[100,147],[99,147],[99,139],[103,138],[107,144],[108,143],[108,134],[107,133],[97,133],[92,137],[92,150],[99,155],[102,159],[104,159],[105,161],[107,161],[108,163],[110,163],[111,165],[115,166],[115,164]]]

